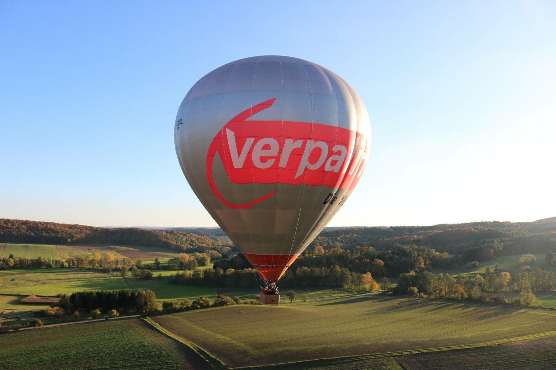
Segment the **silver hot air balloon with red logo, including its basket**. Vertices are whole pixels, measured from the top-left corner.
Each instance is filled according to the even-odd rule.
[[[365,105],[343,79],[306,60],[265,55],[202,77],[183,99],[174,141],[181,169],[216,223],[275,283],[334,217],[369,156]]]

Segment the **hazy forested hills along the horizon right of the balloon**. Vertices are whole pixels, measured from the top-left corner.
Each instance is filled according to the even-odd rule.
[[[395,244],[418,245],[439,252],[464,254],[492,250],[496,255],[546,252],[556,249],[556,217],[534,222],[469,222],[433,226],[347,227],[324,230],[311,246],[325,249],[372,246],[390,249]]]

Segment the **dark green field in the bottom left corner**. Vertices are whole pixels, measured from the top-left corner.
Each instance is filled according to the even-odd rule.
[[[139,320],[0,335],[2,369],[188,369],[202,366],[185,346]]]

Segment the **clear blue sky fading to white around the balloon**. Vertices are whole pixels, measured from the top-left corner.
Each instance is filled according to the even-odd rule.
[[[373,141],[331,226],[556,216],[556,3],[0,2],[0,217],[215,225],[173,120],[222,64],[279,54],[359,93]]]

